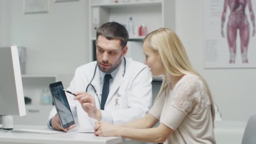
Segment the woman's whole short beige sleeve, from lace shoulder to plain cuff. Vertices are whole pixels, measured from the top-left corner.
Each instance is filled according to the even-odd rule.
[[[209,104],[203,81],[196,75],[186,75],[171,90],[160,122],[176,130],[190,112],[203,111]]]

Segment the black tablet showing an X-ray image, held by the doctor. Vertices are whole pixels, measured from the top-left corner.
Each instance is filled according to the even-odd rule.
[[[59,115],[62,128],[67,128],[71,125],[74,125],[75,120],[72,115],[71,109],[69,107],[66,93],[65,91],[63,91],[64,88],[62,83],[61,82],[51,83],[49,85],[49,88],[51,91],[51,96],[53,98],[55,108]]]

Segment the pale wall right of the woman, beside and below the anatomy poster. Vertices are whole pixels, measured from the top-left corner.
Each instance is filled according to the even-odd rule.
[[[190,61],[207,80],[223,120],[256,114],[256,69],[204,69],[203,0],[176,0],[176,32]]]

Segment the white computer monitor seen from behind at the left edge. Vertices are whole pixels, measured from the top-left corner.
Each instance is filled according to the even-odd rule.
[[[0,47],[0,115],[26,115],[17,46]]]

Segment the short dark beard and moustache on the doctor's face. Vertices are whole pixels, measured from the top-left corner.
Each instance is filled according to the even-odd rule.
[[[105,73],[109,74],[109,73],[115,71],[115,70],[120,66],[120,64],[121,64],[121,62],[122,62],[122,58],[123,58],[123,56],[122,56],[122,54],[121,54],[121,55],[118,57],[118,59],[115,61],[114,64],[109,64],[109,61],[98,61],[98,59],[97,59],[97,64],[98,64],[98,67],[99,67],[99,69],[101,70],[101,72],[105,72]],[[110,67],[107,67],[107,68],[101,67],[101,64],[107,64],[107,65],[109,65]]]

